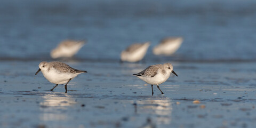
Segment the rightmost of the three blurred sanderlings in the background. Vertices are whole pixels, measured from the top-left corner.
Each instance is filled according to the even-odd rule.
[[[181,37],[163,39],[161,43],[154,47],[153,53],[156,55],[171,55],[179,49],[182,41],[183,39]]]

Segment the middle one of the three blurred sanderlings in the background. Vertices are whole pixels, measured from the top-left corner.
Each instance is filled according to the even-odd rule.
[[[121,53],[121,61],[137,62],[146,55],[150,43],[135,43]]]

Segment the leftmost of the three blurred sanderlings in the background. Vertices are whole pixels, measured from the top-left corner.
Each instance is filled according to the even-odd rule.
[[[61,42],[54,50],[51,51],[52,58],[73,57],[85,44],[84,41],[67,40]]]

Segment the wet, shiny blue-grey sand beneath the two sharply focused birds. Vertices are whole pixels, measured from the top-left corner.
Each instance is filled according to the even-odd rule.
[[[67,62],[86,74],[53,92],[39,61],[0,63],[0,127],[255,127],[253,62],[172,62],[161,92],[133,73],[155,63]],[[199,100],[200,103],[193,103]]]

